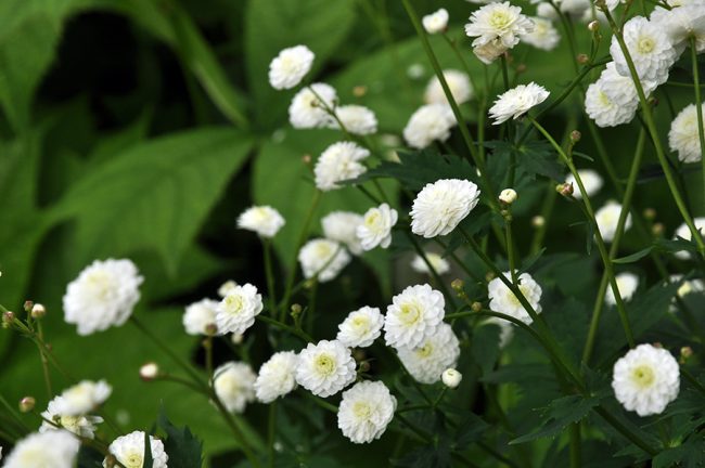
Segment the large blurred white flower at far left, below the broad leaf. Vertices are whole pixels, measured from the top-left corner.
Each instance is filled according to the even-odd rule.
[[[143,281],[130,260],[95,260],[66,288],[64,320],[78,326],[78,335],[123,325],[140,300]]]

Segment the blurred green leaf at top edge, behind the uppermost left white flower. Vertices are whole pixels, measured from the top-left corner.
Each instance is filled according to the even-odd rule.
[[[251,0],[246,11],[245,50],[257,121],[272,127],[286,118],[292,92],[272,89],[269,63],[282,49],[304,44],[320,69],[355,22],[352,0]],[[311,76],[315,75],[315,70]]]

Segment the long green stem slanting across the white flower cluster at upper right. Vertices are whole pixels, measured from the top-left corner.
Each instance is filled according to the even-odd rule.
[[[663,145],[661,144],[661,138],[658,136],[658,131],[656,129],[656,123],[654,121],[653,113],[651,112],[651,107],[649,105],[649,102],[646,101],[646,95],[644,94],[644,89],[641,86],[641,80],[639,79],[639,74],[637,73],[634,63],[631,60],[631,54],[629,52],[629,49],[627,48],[621,31],[615,24],[612,14],[610,14],[610,10],[607,10],[607,8],[605,6],[602,9],[602,11],[604,12],[607,21],[610,22],[610,26],[612,26],[614,37],[617,38],[617,42],[619,43],[619,49],[621,49],[621,53],[625,56],[627,66],[629,67],[629,73],[634,83],[634,88],[637,88],[639,102],[641,103],[642,115],[646,122],[646,128],[649,129],[651,139],[654,143],[654,148],[656,150],[656,157],[658,158],[658,162],[661,164],[661,167],[664,171],[664,176],[666,176],[666,182],[668,183],[668,188],[670,191],[670,194],[674,197],[674,200],[676,202],[676,206],[678,207],[681,217],[683,218],[685,224],[690,229],[692,238],[695,240],[695,244],[697,244],[697,249],[700,250],[701,256],[705,258],[705,242],[703,240],[703,237],[700,235],[697,227],[695,227],[695,224],[693,223],[693,218],[688,212],[685,203],[683,202],[683,198],[680,195],[680,191],[678,190],[676,179],[674,178],[674,173],[670,169],[670,165],[668,164],[668,159],[666,157],[666,154],[664,153]]]

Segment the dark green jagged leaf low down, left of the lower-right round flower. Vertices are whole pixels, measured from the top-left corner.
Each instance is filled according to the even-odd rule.
[[[538,431],[510,441],[510,445],[530,442],[540,438],[555,437],[568,425],[585,418],[590,413],[590,410],[599,404],[600,399],[598,396],[568,395],[554,400],[543,413],[544,420],[541,428]]]

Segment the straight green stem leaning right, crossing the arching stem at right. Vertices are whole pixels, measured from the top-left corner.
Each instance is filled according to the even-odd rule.
[[[621,202],[621,211],[619,211],[619,219],[617,220],[617,229],[615,236],[612,239],[612,246],[610,247],[610,261],[612,261],[617,251],[619,250],[619,242],[621,240],[621,235],[625,231],[625,225],[627,224],[627,217],[629,213],[629,206],[631,205],[631,198],[634,193],[634,187],[637,186],[637,176],[639,176],[639,168],[641,167],[641,159],[644,153],[644,143],[646,141],[646,134],[643,129],[639,132],[639,139],[637,140],[637,150],[634,152],[634,158],[631,161],[631,169],[629,170],[629,179],[627,181],[627,188]],[[588,330],[588,338],[585,343],[585,349],[582,350],[582,362],[589,363],[590,356],[592,355],[592,348],[594,346],[594,339],[598,332],[598,326],[600,325],[600,315],[604,304],[604,296],[607,290],[610,276],[607,270],[602,274],[602,280],[600,282],[600,288],[598,289],[598,296],[594,300],[594,307],[592,308],[592,318],[590,321],[590,329]]]

